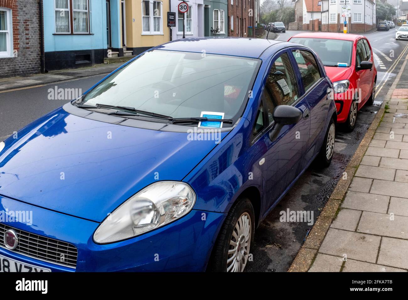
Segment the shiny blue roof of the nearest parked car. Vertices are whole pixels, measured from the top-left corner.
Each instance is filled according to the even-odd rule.
[[[184,38],[167,42],[154,49],[170,51],[187,51],[231,56],[259,58],[269,47],[282,43],[277,40],[262,38],[206,37]]]

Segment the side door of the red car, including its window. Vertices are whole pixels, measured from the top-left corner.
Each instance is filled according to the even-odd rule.
[[[356,47],[356,73],[357,73],[357,89],[361,98],[358,101],[357,108],[360,109],[371,94],[371,70],[358,70],[362,61],[367,61],[367,51],[364,47],[363,40],[357,41]]]

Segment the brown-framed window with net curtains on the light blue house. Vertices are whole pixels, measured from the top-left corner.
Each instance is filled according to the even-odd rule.
[[[89,2],[89,0],[55,0],[55,33],[91,33]]]

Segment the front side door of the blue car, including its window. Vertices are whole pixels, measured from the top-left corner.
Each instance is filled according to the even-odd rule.
[[[266,153],[262,159],[266,168],[265,178],[266,211],[282,196],[289,185],[302,170],[303,156],[309,140],[310,119],[306,100],[299,98],[299,83],[290,60],[290,51],[277,53],[271,60],[269,71],[264,79],[262,109],[264,129],[255,136],[262,139]],[[292,105],[304,113],[297,124],[285,125],[275,141],[269,139],[273,129],[273,110],[278,105]]]

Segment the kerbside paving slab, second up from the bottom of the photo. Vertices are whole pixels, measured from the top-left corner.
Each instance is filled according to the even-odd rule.
[[[379,244],[379,236],[330,228],[319,252],[340,257],[346,254],[347,258],[375,262]]]

